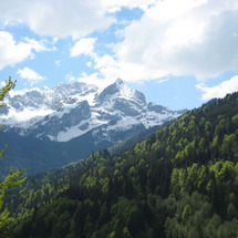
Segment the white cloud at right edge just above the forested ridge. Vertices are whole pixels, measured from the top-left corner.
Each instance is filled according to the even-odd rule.
[[[209,87],[205,84],[197,84],[196,87],[203,92],[203,100],[224,97],[228,93],[234,93],[238,91],[238,75],[232,76],[230,80],[224,81],[216,86]]]

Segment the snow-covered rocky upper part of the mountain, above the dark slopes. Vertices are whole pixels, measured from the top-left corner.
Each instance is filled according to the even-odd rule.
[[[143,93],[121,79],[103,90],[75,82],[52,90],[10,92],[4,101],[7,106],[0,108],[0,123],[6,131],[56,142],[68,142],[91,132],[94,143],[115,144],[185,112],[147,104]]]

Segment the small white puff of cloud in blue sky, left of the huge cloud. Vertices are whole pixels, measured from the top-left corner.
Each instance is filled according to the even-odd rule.
[[[70,50],[71,56],[80,56],[81,54],[93,55],[93,49],[96,38],[84,38],[79,40]]]

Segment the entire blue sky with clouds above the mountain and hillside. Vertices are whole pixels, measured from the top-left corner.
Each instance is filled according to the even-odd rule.
[[[238,91],[237,22],[237,0],[1,1],[0,81],[121,77],[147,102],[194,108]]]

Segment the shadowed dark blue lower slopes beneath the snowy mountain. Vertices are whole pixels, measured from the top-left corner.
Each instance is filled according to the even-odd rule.
[[[110,154],[120,153],[143,141],[169,123],[172,122],[166,122],[161,126],[154,126],[136,136],[130,137],[125,142],[111,147],[108,152]],[[8,175],[12,165],[20,170],[25,168],[25,174],[32,175],[86,158],[92,151],[97,152],[113,145],[108,142],[100,142],[95,144],[92,139],[92,132],[89,132],[79,138],[62,143],[53,142],[49,138],[38,139],[33,136],[20,136],[15,132],[0,132],[0,142],[3,142],[9,146],[9,149],[6,153],[6,159],[0,161],[0,178]]]

